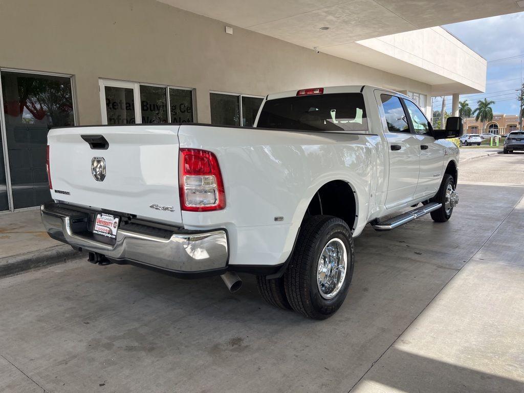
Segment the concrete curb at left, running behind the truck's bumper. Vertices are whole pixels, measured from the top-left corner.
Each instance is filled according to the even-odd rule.
[[[43,266],[51,266],[86,256],[67,244],[37,250],[31,253],[14,255],[0,259],[0,277],[10,276]]]

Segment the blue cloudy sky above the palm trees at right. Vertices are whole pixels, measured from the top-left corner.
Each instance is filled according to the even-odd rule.
[[[524,62],[524,12],[442,27],[488,61],[486,92],[461,95],[461,101],[467,99],[475,109],[477,101],[487,97],[495,101],[494,113],[516,115],[519,102],[515,90],[520,88],[521,60]],[[441,98],[434,98],[433,109],[440,111],[441,107]],[[446,98],[446,111],[451,112],[451,96]]]

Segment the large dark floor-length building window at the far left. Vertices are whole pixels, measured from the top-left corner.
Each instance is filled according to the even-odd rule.
[[[4,106],[0,156],[6,154],[8,161],[4,168],[0,157],[0,210],[37,206],[51,200],[47,133],[51,127],[75,124],[71,77],[11,70],[0,75]]]

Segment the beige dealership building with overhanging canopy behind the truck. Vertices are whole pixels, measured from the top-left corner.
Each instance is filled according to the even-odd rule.
[[[51,198],[51,127],[251,126],[266,94],[333,85],[396,90],[428,115],[431,96],[453,94],[457,106],[485,90],[486,61],[434,26],[519,10],[513,0],[241,3],[0,2],[0,211]]]

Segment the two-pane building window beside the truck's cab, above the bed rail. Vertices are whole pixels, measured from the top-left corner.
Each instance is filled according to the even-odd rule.
[[[264,99],[253,95],[209,93],[211,124],[252,127]],[[241,122],[242,119],[242,122]]]

